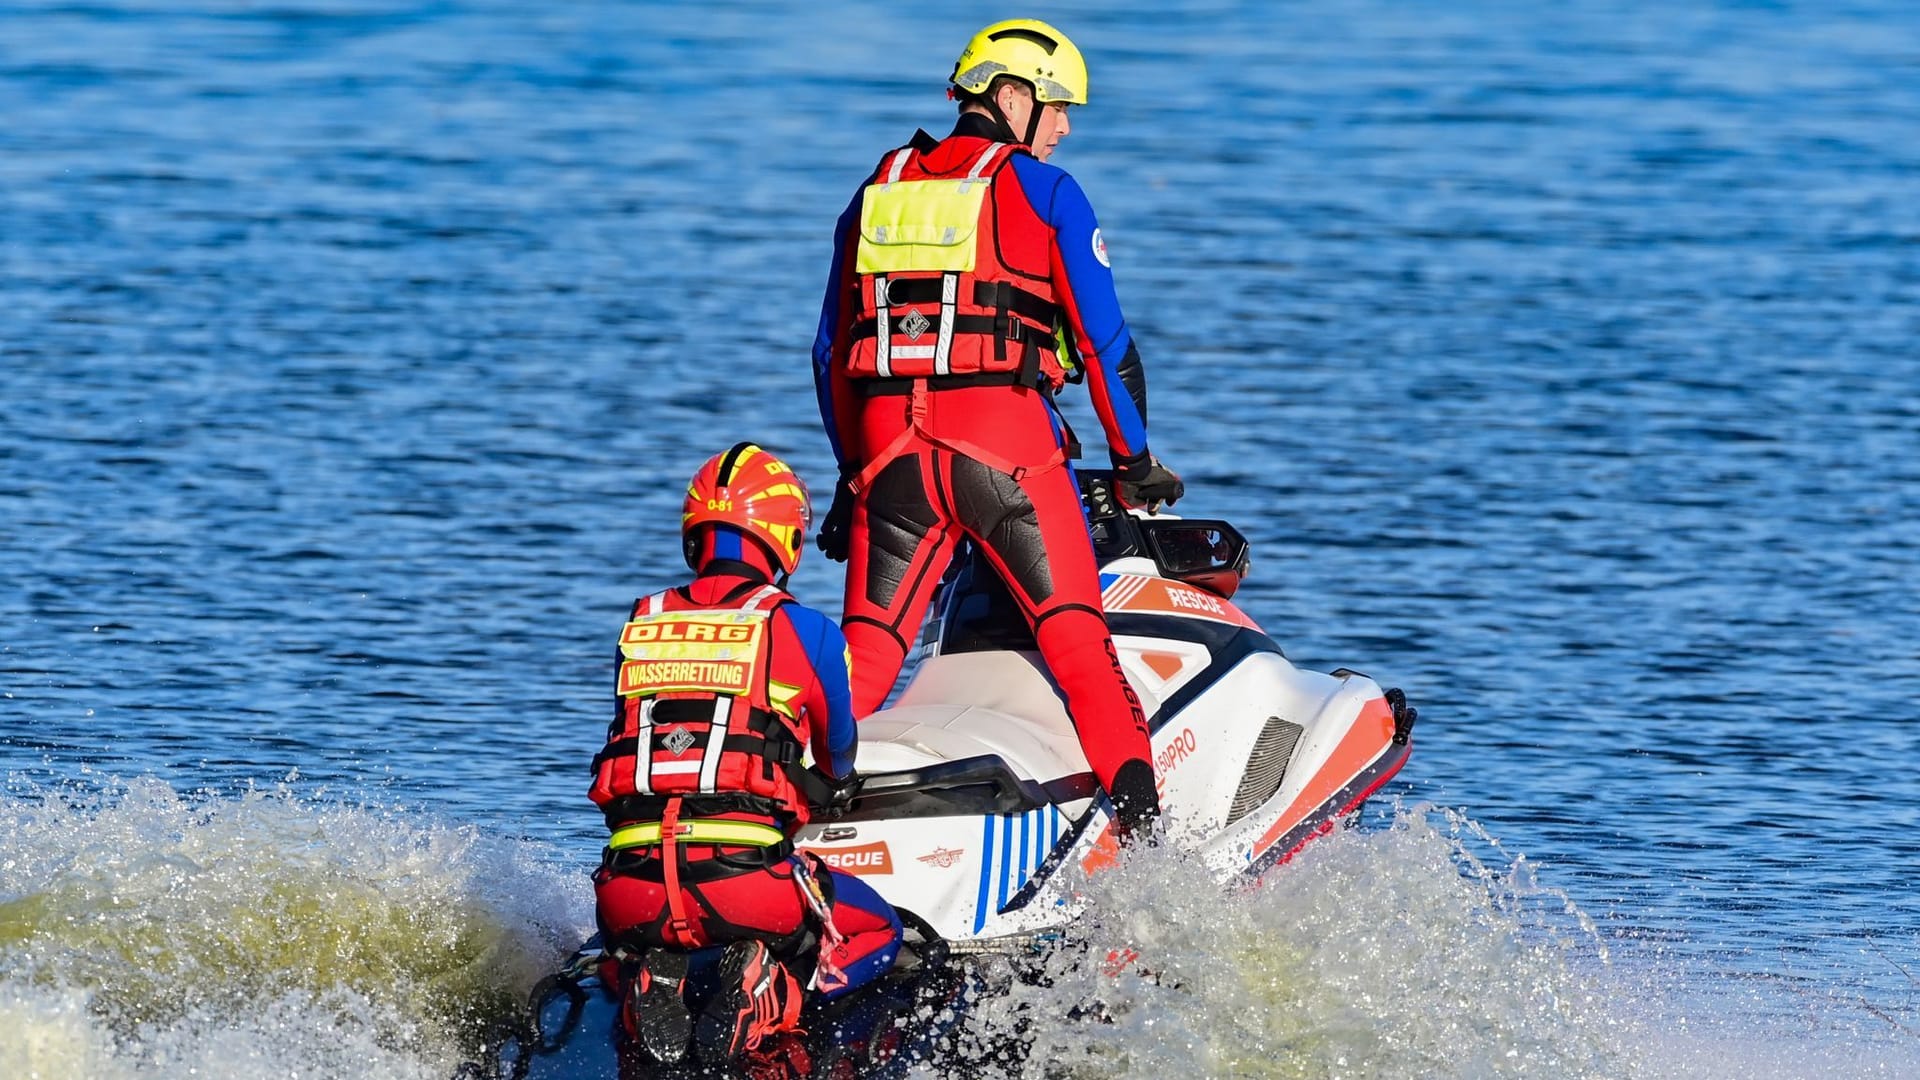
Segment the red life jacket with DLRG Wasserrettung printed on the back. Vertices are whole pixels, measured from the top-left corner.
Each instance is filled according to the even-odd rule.
[[[768,694],[774,611],[791,600],[749,584],[718,603],[678,588],[634,601],[620,632],[618,711],[588,792],[603,811],[634,796],[634,805],[749,796],[739,803],[806,822],[806,798],[789,776],[806,728]]]

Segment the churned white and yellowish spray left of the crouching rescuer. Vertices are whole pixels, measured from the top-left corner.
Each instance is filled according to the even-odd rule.
[[[530,844],[288,790],[10,794],[0,832],[0,1076],[447,1076],[584,932]]]

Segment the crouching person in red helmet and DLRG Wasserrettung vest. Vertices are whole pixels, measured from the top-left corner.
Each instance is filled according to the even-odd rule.
[[[695,1034],[737,1057],[797,1032],[808,967],[833,997],[899,951],[887,901],[793,849],[806,792],[847,794],[856,749],[847,642],[785,592],[810,521],[785,461],[751,442],[714,455],[680,519],[695,578],[639,598],[620,632],[589,792],[612,830],[593,894],[609,951],[641,959],[622,1019],[660,1061]],[[720,992],[695,1032],[687,955],[712,944],[728,945]]]

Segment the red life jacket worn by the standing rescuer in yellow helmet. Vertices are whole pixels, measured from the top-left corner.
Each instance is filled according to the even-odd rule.
[[[1000,183],[1025,152],[960,135],[881,160],[860,196],[849,377],[1060,388],[1052,229]]]

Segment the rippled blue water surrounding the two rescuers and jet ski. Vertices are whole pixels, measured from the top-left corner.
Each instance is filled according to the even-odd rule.
[[[1745,1053],[1515,1063],[1488,1020],[1417,1072],[1908,1072],[1920,13],[1043,13],[1094,63],[1056,161],[1102,215],[1181,509],[1252,536],[1244,607],[1298,663],[1421,707],[1379,847],[1340,838],[1329,867],[1484,886],[1459,920],[1382,899],[1421,963],[1365,990],[1482,994],[1532,1017],[1526,1045],[1619,1011]],[[109,974],[44,986],[92,947],[56,922],[228,919],[179,907],[179,865],[257,844],[317,851],[300,894],[426,880],[382,926],[486,913],[503,944],[463,1001],[563,947],[611,634],[674,580],[705,455],[756,438],[831,475],[806,367],[829,227],[945,125],[975,21],[0,8],[0,1045],[13,1024],[65,1032],[88,1074],[227,1068],[219,1022],[131,1036],[154,1003]],[[803,600],[837,588],[803,565]],[[117,894],[140,865],[102,838],[186,878]],[[1553,963],[1473,967],[1442,926]],[[1448,965],[1484,978],[1423,982]],[[1605,990],[1528,1013],[1548,969]],[[1302,1074],[1402,1074],[1373,1022],[1308,1030],[1352,1061]],[[286,1074],[451,1053],[244,1030]],[[1135,1034],[1140,1061],[1225,1068]]]

